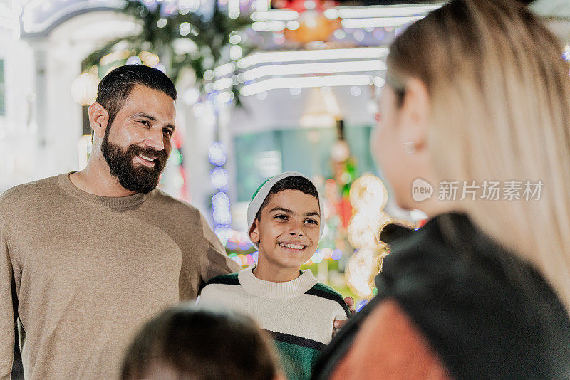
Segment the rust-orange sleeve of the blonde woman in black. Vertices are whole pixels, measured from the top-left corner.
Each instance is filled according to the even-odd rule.
[[[385,300],[363,321],[331,379],[447,380],[450,375],[398,302]]]

